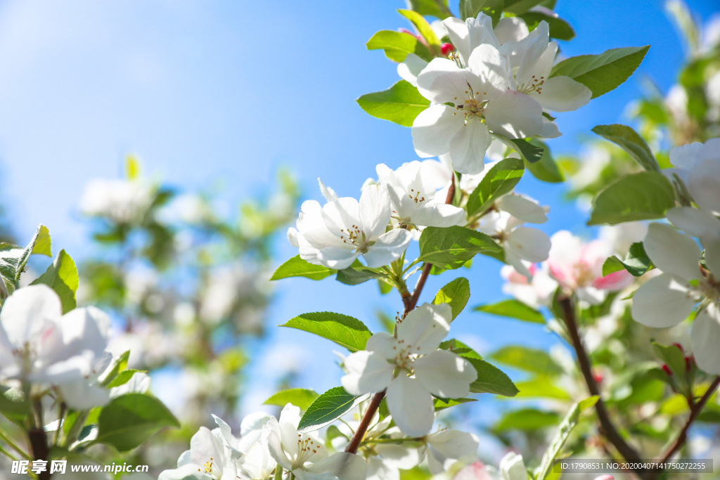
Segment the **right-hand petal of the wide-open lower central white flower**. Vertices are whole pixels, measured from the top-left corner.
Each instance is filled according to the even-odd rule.
[[[447,350],[435,350],[413,364],[415,378],[436,397],[459,398],[470,394],[477,370],[465,358]]]

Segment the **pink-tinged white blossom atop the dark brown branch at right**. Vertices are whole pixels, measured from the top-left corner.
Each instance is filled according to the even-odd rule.
[[[603,276],[603,263],[613,251],[603,240],[583,244],[567,230],[550,237],[552,247],[547,260],[552,277],[564,289],[589,304],[600,304],[607,291],[624,289],[633,279],[625,270]]]

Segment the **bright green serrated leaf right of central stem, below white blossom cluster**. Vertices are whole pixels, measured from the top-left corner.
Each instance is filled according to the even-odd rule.
[[[452,270],[477,253],[500,253],[502,249],[484,233],[465,227],[427,227],[420,235],[421,262]]]

